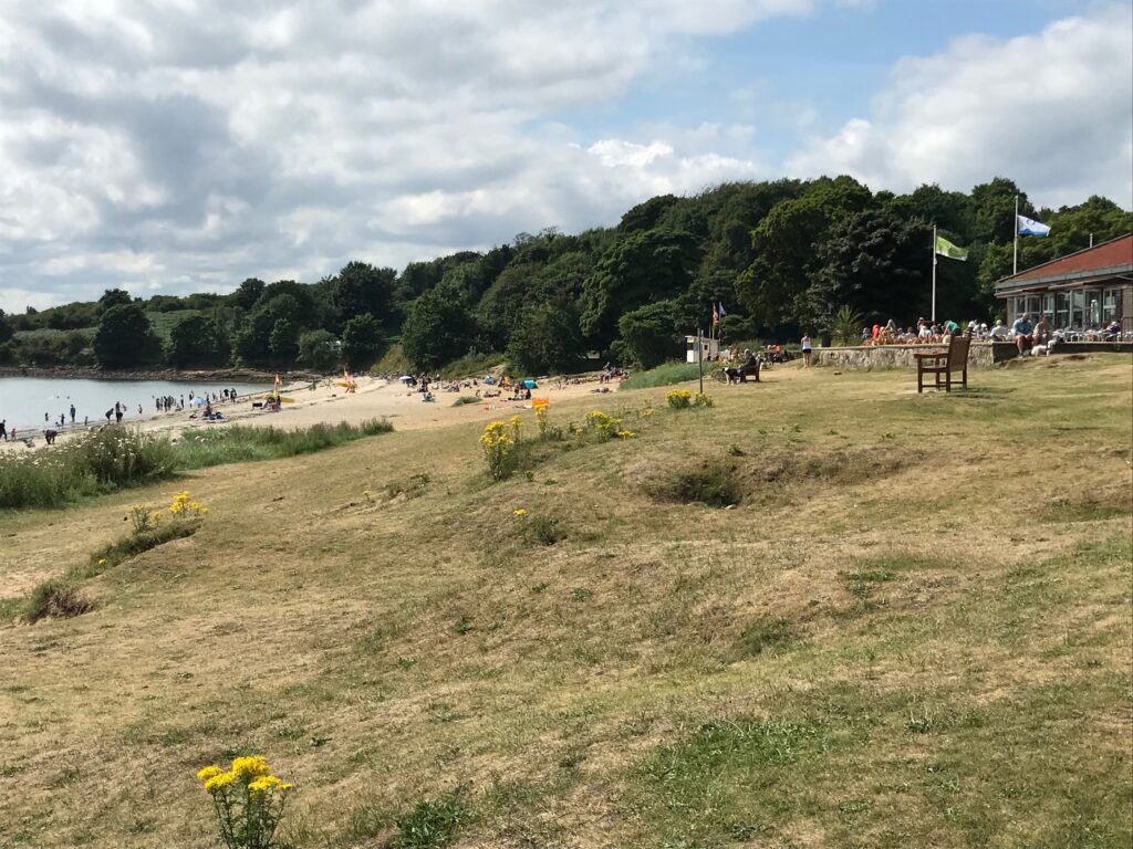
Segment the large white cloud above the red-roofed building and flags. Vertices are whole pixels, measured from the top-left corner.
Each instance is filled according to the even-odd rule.
[[[812,139],[789,170],[894,190],[968,190],[1005,175],[1036,203],[1099,194],[1133,206],[1131,43],[1128,8],[1105,7],[1036,35],[970,36],[903,59],[869,118]]]

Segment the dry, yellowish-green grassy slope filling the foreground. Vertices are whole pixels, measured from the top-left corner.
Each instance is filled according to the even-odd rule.
[[[210,507],[0,627],[0,846],[215,846],[258,753],[303,849],[1127,847],[1130,358],[782,374],[495,484],[460,426],[0,517],[23,593]]]

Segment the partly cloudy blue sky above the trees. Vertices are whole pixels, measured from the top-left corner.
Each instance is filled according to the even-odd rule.
[[[847,173],[1133,208],[1133,2],[0,0],[0,309]]]

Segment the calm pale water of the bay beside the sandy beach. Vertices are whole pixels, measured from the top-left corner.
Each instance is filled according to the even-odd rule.
[[[220,394],[221,389],[236,389],[240,395],[271,389],[271,384],[215,383],[208,380],[90,380],[69,377],[0,377],[0,419],[7,419],[8,430],[42,430],[49,427],[43,421],[46,413],[51,422],[58,422],[61,413],[67,414],[70,426],[70,405],[75,405],[75,421],[83,423],[88,417],[92,424],[105,422],[107,410],[114,402],[126,406],[122,422],[137,421],[138,405],[148,418],[157,412],[154,398],[162,395],[184,397],[189,393]]]

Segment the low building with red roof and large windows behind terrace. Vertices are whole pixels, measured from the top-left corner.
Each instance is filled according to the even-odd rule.
[[[1133,333],[1133,233],[1070,254],[995,284],[1007,324],[1046,314],[1055,329],[1088,333],[1121,321]]]

